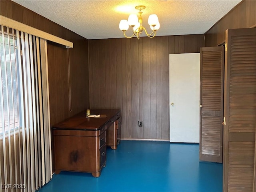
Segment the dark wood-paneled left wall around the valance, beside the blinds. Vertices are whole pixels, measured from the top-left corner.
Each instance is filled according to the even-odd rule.
[[[13,1],[1,0],[0,14],[74,43],[74,48],[70,49],[69,53],[71,112],[68,92],[68,49],[48,43],[51,125],[88,108],[88,40]]]

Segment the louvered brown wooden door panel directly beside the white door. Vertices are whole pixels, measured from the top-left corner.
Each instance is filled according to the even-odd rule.
[[[224,47],[200,48],[200,160],[222,163]]]

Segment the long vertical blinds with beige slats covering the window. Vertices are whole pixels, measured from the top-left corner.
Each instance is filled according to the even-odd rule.
[[[0,28],[0,191],[34,191],[52,178],[47,44]]]

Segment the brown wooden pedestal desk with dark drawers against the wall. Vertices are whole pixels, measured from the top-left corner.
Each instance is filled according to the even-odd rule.
[[[61,170],[90,172],[99,177],[106,165],[106,146],[120,142],[120,110],[91,110],[106,118],[86,118],[86,111],[52,127],[55,174]]]

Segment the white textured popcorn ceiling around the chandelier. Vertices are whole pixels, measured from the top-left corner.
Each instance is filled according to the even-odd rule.
[[[144,5],[143,26],[157,14],[157,36],[204,34],[240,0],[14,0],[87,39],[121,38],[119,22]],[[129,29],[128,35],[131,33]],[[141,36],[145,36],[144,33]]]

